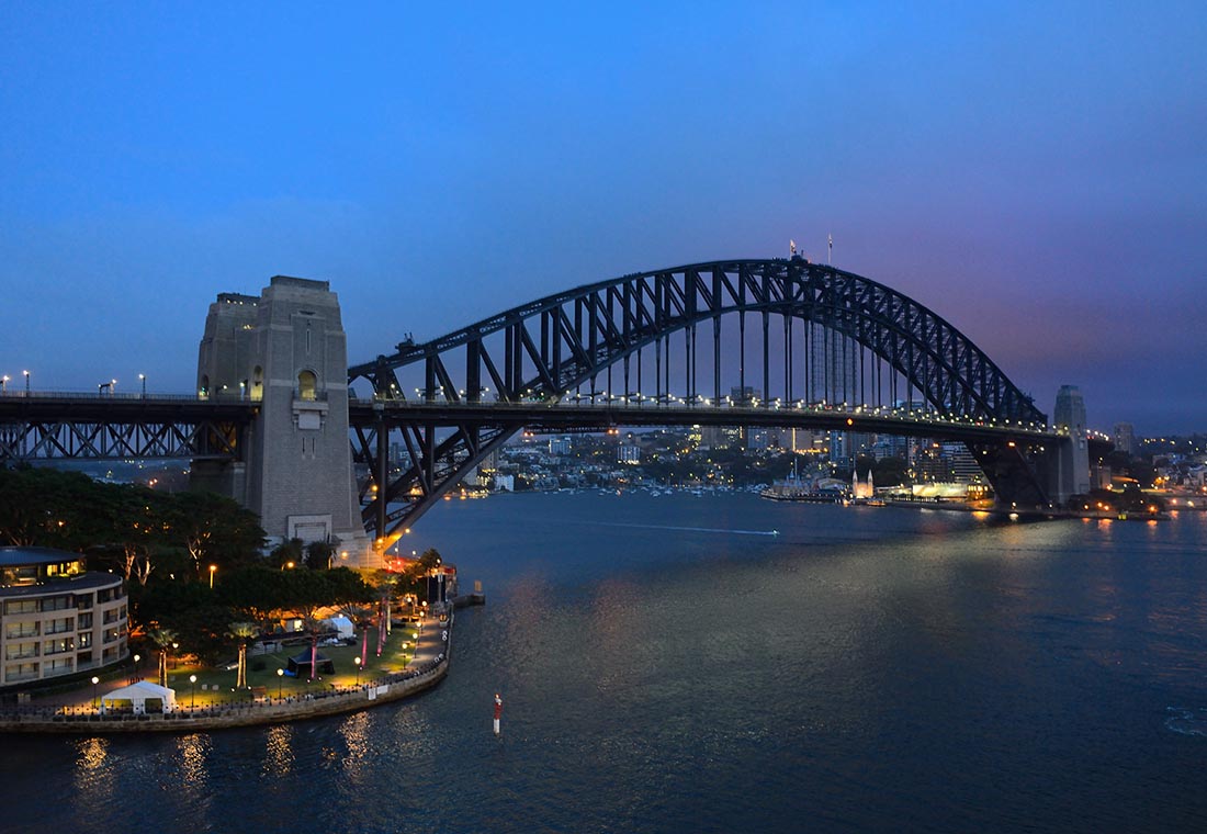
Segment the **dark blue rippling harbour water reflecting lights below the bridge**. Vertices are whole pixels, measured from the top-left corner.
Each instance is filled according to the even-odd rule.
[[[0,736],[0,830],[1207,830],[1205,514],[556,494],[444,502],[408,540],[488,593],[437,689]]]

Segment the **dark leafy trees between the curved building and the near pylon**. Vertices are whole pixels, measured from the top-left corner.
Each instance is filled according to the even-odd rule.
[[[130,632],[170,631],[179,651],[212,660],[240,622],[270,631],[285,614],[357,606],[420,589],[391,575],[330,567],[330,547],[286,542],[264,555],[255,513],[211,492],[158,492],[51,468],[0,468],[0,546],[82,553],[127,579]],[[212,568],[212,570],[211,570]],[[212,588],[211,588],[212,577]]]

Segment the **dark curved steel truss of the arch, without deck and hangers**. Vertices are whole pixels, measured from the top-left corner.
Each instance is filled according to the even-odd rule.
[[[762,331],[760,349],[754,351],[756,358],[762,354],[762,362],[756,362],[762,375],[750,379],[748,316],[754,316]],[[723,338],[723,321],[734,319],[736,340]],[[780,339],[779,356],[772,356],[771,349],[774,319],[782,320],[782,338],[779,331],[775,334]],[[902,380],[906,402],[914,402],[916,393],[943,414],[1019,427],[1046,426],[1046,416],[1031,397],[934,311],[882,284],[803,258],[700,263],[582,286],[427,343],[401,343],[395,354],[350,368],[349,384],[368,381],[374,398],[383,403],[442,402],[451,413],[461,404],[483,402],[488,398],[483,395],[491,389],[500,404],[558,403],[587,384],[594,393],[596,378],[608,374],[611,379],[612,371],[619,368],[628,396],[634,390],[630,367],[634,357],[641,391],[642,358],[652,348],[655,399],[670,396],[671,367],[677,364],[682,367],[686,396],[698,402],[706,398],[701,391],[709,389],[707,383],[701,386],[698,379],[699,329],[704,327],[711,329],[713,403],[722,399],[722,366],[735,360],[737,387],[745,391],[747,383],[760,383],[763,399],[770,402],[772,384],[780,384],[782,373],[781,401],[791,402],[795,399],[793,385],[799,375],[793,371],[798,325],[806,328],[803,338],[806,351],[814,326],[869,351],[880,363],[877,367],[888,368],[891,385]],[[672,348],[680,334],[682,348]],[[705,356],[702,361],[709,364]],[[772,373],[776,361],[780,367]],[[408,401],[398,375],[412,367],[420,369],[422,377],[415,401]],[[875,373],[873,379],[876,380]],[[812,398],[807,366],[805,380],[806,397]],[[611,393],[611,384],[608,387]],[[374,479],[379,484],[377,496],[365,507],[366,523],[381,535],[414,520],[443,489],[456,483],[454,478],[472,471],[523,425],[482,416],[454,420],[450,415],[436,418],[430,413],[383,418],[356,439],[357,459],[377,463]],[[402,431],[410,466],[401,477],[385,483],[384,447],[391,430]],[[1044,486],[1025,459],[1027,447],[996,443],[986,441],[970,447],[974,454],[982,453],[979,460],[985,462],[990,479],[997,478],[995,486],[1025,496],[1028,503],[1032,500],[1036,505],[1046,503]],[[992,463],[990,449],[993,449]],[[386,512],[390,503],[403,501],[408,503]]]

